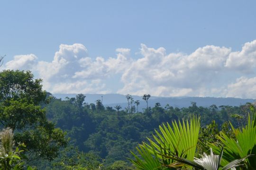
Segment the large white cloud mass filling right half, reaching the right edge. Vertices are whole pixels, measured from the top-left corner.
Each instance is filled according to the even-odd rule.
[[[143,57],[134,61],[122,75],[124,87],[119,89],[119,93],[253,97],[242,95],[242,86],[238,89],[229,83],[239,76],[234,71],[247,74],[256,67],[256,41],[245,43],[242,51],[236,52],[226,47],[207,45],[191,54],[166,54],[162,47],[153,49],[141,44],[140,53]],[[229,92],[228,89],[233,90]],[[240,90],[239,95],[232,93],[236,90]]]

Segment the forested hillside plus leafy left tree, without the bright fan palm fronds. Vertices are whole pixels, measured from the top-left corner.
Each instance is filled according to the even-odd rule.
[[[138,111],[140,102],[150,100],[149,94],[141,101],[133,101],[128,94],[126,108],[112,108],[105,107],[101,99],[87,103],[83,94],[57,99],[42,90],[41,82],[29,71],[0,73],[0,126],[7,129],[0,133],[0,149],[5,148],[4,134],[13,133],[13,137],[9,136],[16,141],[5,151],[9,157],[0,158],[0,165],[11,162],[6,166],[16,163],[13,167],[39,170],[136,169],[131,161],[140,151],[137,145],[154,139],[161,130],[159,125],[200,119],[197,153],[202,154],[207,150],[204,143],[219,142],[220,133],[236,138],[232,128],[245,127],[254,108],[251,103],[198,107],[196,102],[188,108],[174,108],[172,103],[161,106],[157,102],[153,108]],[[15,151],[10,149],[13,145]]]

